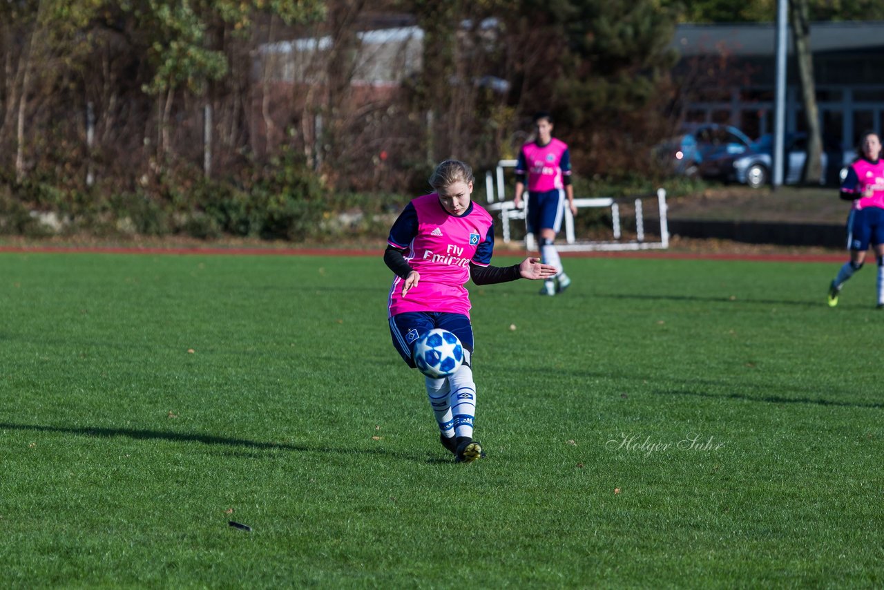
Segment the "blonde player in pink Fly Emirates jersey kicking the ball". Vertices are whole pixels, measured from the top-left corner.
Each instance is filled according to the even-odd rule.
[[[384,262],[396,276],[389,297],[392,343],[402,360],[415,368],[412,345],[433,328],[453,332],[464,349],[463,364],[444,379],[424,377],[436,415],[439,440],[455,461],[470,463],[484,456],[473,440],[476,383],[473,381],[473,326],[469,293],[464,285],[490,285],[516,279],[547,279],[555,268],[525,258],[513,266],[492,266],[492,216],[470,200],[473,172],[469,165],[446,160],[430,178],[435,192],[406,205],[390,229]]]

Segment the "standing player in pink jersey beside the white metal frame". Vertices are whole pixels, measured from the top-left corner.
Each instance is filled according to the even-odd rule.
[[[561,229],[565,196],[573,215],[574,187],[571,186],[571,156],[568,144],[552,137],[552,116],[538,112],[534,116],[537,138],[526,143],[519,152],[515,165],[516,209],[522,209],[522,193],[528,185],[528,231],[534,234],[540,250],[540,260],[556,268],[556,276],[544,282],[540,295],[556,295],[571,284],[561,264],[555,236]]]

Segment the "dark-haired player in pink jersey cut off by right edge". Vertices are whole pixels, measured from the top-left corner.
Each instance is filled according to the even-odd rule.
[[[850,262],[841,267],[829,285],[829,307],[838,304],[844,283],[863,267],[871,243],[878,259],[878,309],[884,309],[884,161],[880,155],[880,136],[871,131],[863,134],[857,161],[850,165],[842,182],[841,198],[853,202],[847,220]]]

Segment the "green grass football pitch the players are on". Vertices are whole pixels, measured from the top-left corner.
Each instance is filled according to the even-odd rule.
[[[460,465],[379,256],[0,255],[0,586],[884,585],[873,267],[566,263]]]

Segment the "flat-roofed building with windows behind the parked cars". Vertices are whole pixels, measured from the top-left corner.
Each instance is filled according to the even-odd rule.
[[[800,132],[803,105],[791,36],[786,131]],[[681,54],[676,73],[717,67],[726,74],[706,72],[686,119],[729,123],[752,137],[771,132],[775,37],[773,23],[677,27],[671,43]],[[884,123],[884,21],[812,23],[810,42],[823,142],[851,149],[863,131],[880,131]]]

